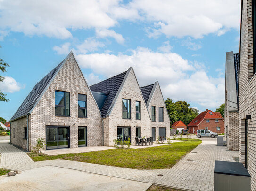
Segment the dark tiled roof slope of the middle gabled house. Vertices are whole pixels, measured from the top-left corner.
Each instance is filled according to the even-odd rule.
[[[130,69],[131,68],[128,70]],[[116,76],[110,77],[102,82],[99,82],[98,84],[90,86],[92,92],[107,94],[107,99],[101,107],[102,117],[106,117],[108,110],[110,109],[114,99],[116,98],[116,95],[118,94],[117,92],[120,89],[121,84],[123,84],[124,77],[126,76],[128,70]]]

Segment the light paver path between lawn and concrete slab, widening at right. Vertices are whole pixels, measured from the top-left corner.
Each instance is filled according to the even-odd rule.
[[[48,160],[28,163],[25,165],[8,166],[6,168],[23,171],[26,169],[51,165],[100,175],[165,185],[179,189],[213,191],[215,160],[234,162],[232,157],[238,157],[238,152],[227,151],[227,147],[217,147],[216,138],[201,139],[203,140],[201,145],[198,145],[197,148],[170,169],[136,170],[69,160]],[[193,161],[188,161],[187,159]],[[163,176],[157,176],[158,174],[162,174]]]

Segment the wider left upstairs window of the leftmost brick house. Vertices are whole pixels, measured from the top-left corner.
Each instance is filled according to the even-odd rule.
[[[55,115],[69,116],[69,92],[55,91]]]

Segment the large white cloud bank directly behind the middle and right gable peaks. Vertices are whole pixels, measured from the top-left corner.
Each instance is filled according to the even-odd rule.
[[[183,59],[177,53],[153,52],[147,48],[130,50],[131,54],[78,54],[82,68],[106,78],[132,66],[140,86],[159,81],[164,97],[196,102],[202,107],[218,107],[224,101],[224,78],[207,76],[204,65]],[[98,80],[98,79],[97,79]]]

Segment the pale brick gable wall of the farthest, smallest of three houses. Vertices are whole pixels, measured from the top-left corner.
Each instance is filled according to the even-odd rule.
[[[165,101],[162,96],[162,92],[160,90],[159,84],[157,84],[156,90],[152,96],[152,99],[149,102],[149,114],[151,116],[151,106],[156,107],[156,121],[152,122],[151,120],[151,131],[152,127],[156,128],[156,138],[159,137],[159,127],[165,127],[166,128],[166,137],[170,137],[170,118],[168,111],[165,108]],[[164,107],[164,122],[159,122],[159,107]]]

